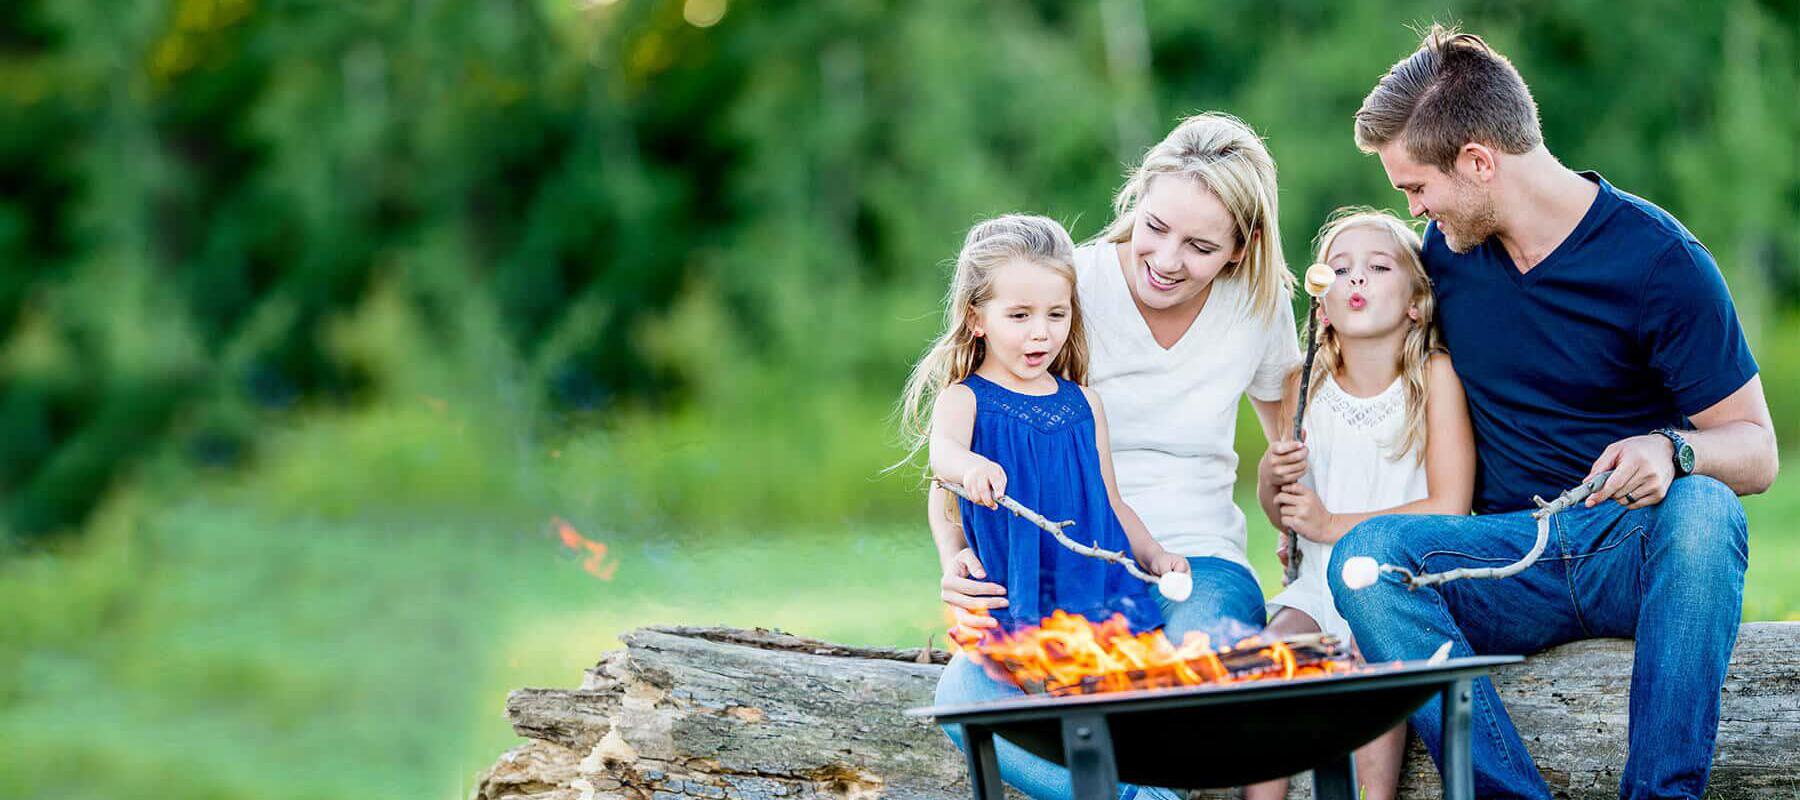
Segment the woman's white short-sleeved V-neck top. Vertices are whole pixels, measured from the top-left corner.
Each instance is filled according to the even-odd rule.
[[[1249,569],[1231,443],[1240,398],[1280,400],[1300,364],[1294,308],[1283,297],[1278,314],[1256,317],[1242,281],[1217,279],[1201,315],[1165,350],[1132,301],[1116,245],[1078,247],[1075,272],[1120,495],[1172,553]]]

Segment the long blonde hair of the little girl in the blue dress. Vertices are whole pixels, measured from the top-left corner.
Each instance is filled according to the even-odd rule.
[[[994,297],[994,270],[1026,259],[1069,279],[1069,341],[1049,362],[1049,373],[1087,384],[1087,333],[1082,328],[1082,303],[1075,292],[1075,241],[1048,216],[1006,214],[979,222],[963,238],[956,254],[956,274],[943,303],[943,333],[913,366],[913,377],[900,396],[900,432],[907,456],[918,456],[931,440],[931,407],[950,384],[968,378],[986,355],[986,342],[974,335],[972,317]]]

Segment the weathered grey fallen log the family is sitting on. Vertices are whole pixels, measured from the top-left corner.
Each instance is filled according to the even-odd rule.
[[[580,688],[508,697],[527,742],[482,775],[475,800],[970,796],[943,733],[900,714],[931,705],[943,650],[733,629],[644,629],[625,643]],[[1742,627],[1708,796],[1800,796],[1796,650],[1800,623]],[[1582,641],[1501,672],[1501,697],[1559,796],[1618,796],[1631,652],[1627,640]],[[1296,780],[1291,796],[1309,795]],[[1400,795],[1440,796],[1417,739]]]

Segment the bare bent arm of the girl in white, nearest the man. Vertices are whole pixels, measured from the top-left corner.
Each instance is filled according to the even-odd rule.
[[[1359,514],[1330,514],[1318,494],[1291,486],[1278,499],[1283,524],[1301,524],[1314,532],[1309,539],[1336,542],[1359,523],[1388,514],[1467,515],[1474,501],[1474,429],[1469,425],[1469,400],[1451,357],[1438,353],[1426,364],[1426,497],[1393,508]],[[1319,519],[1323,517],[1323,519]],[[1309,524],[1312,523],[1312,524]],[[1294,528],[1307,533],[1307,530]]]

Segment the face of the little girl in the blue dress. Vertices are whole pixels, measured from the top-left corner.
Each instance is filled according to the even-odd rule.
[[[990,279],[994,294],[970,319],[988,348],[976,371],[1013,386],[1042,382],[1069,341],[1075,286],[1057,270],[1026,259],[997,267]]]

